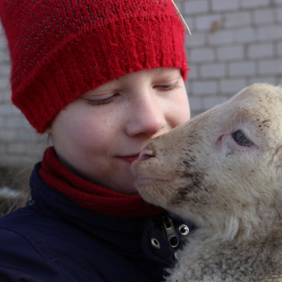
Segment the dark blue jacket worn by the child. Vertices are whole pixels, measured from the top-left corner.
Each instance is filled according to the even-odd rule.
[[[175,252],[162,228],[166,214],[99,214],[50,188],[38,169],[30,178],[27,207],[0,219],[1,282],[162,281]],[[173,219],[180,242],[182,223]]]

